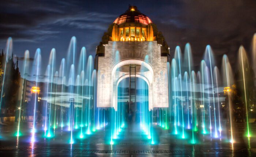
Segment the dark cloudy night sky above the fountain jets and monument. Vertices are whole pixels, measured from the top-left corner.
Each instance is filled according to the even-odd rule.
[[[195,64],[202,60],[208,44],[217,64],[223,54],[234,64],[239,46],[249,51],[256,32],[256,0],[1,0],[0,4],[0,49],[12,37],[15,55],[23,57],[29,50],[33,57],[39,47],[44,64],[54,47],[59,65],[72,36],[77,39],[78,53],[85,46],[94,56],[109,24],[129,4],[163,32],[172,55],[177,45],[183,51],[185,43],[191,43]]]

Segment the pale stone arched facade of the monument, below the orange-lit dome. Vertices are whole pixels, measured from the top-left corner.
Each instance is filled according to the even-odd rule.
[[[161,56],[157,41],[109,41],[104,56],[98,56],[97,107],[117,105],[118,83],[129,73],[116,69],[127,64],[140,64],[148,71],[138,73],[149,88],[149,109],[168,107],[167,57]]]

